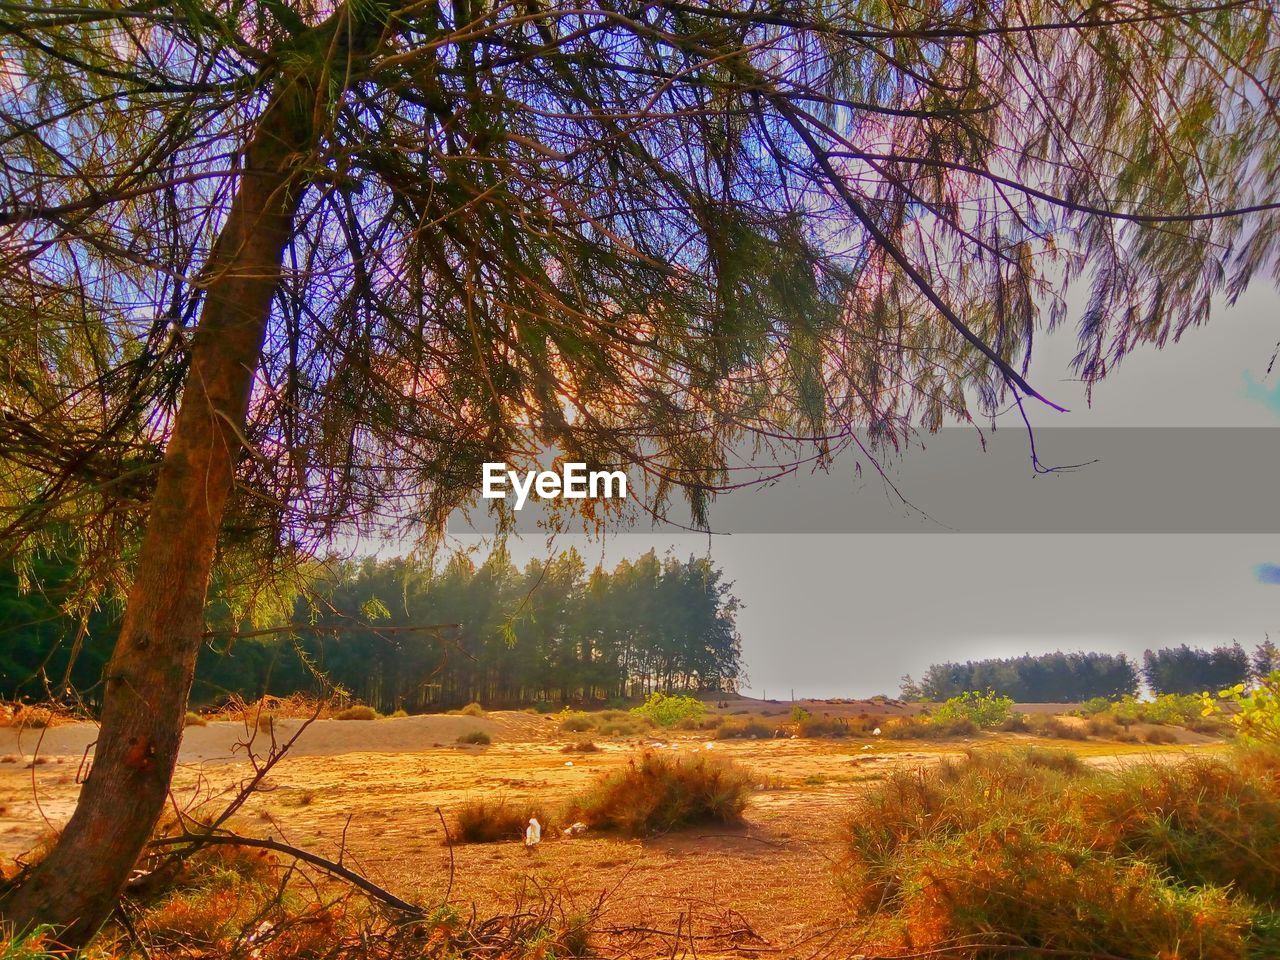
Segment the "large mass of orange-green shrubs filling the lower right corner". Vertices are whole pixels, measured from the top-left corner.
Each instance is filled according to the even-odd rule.
[[[878,948],[1244,960],[1276,946],[1276,751],[1117,772],[970,751],[891,773],[845,829],[842,874]]]

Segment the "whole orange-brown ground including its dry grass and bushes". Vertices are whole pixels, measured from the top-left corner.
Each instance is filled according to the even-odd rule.
[[[307,864],[294,869],[283,852],[218,847],[140,901],[134,925],[152,960],[549,960],[571,951],[692,960],[695,950],[699,960],[781,960],[931,948],[968,957],[983,955],[964,940],[979,929],[993,950],[996,941],[1012,946],[1005,934],[1015,929],[1033,945],[1083,950],[1088,941],[1106,952],[1098,945],[1111,943],[1125,957],[1148,948],[1165,950],[1149,954],[1162,960],[1267,956],[1260,945],[1276,895],[1280,777],[1266,755],[1228,754],[1204,737],[1194,742],[1207,748],[1190,754],[1178,744],[1130,746],[1098,739],[1112,733],[1105,721],[1033,714],[973,740],[1050,744],[1059,723],[1089,739],[1057,740],[1065,753],[984,746],[966,756],[964,744],[923,739],[922,728],[911,744],[876,737],[876,726],[915,722],[868,707],[835,705],[805,726],[772,707],[735,714],[735,703],[708,718],[709,730],[641,727],[628,741],[602,733],[634,722],[627,713],[584,714],[599,742],[558,733],[563,716],[321,721],[228,826],[346,863],[424,905],[425,919],[353,895]],[[301,721],[275,723],[291,732]],[[492,731],[493,745],[458,749],[465,724]],[[753,726],[768,733],[726,732]],[[1138,723],[1133,736],[1153,728],[1185,740],[1167,724]],[[0,765],[0,844],[10,852],[32,846],[45,817],[56,824],[69,814],[82,751],[76,730],[49,731],[46,741],[67,750],[51,754],[54,763]],[[792,739],[801,731],[810,736]],[[244,782],[241,754],[207,746],[219,735],[243,737],[246,724],[188,728],[209,759],[179,771],[175,797],[186,809]],[[1057,817],[1052,797],[1066,797],[1074,813],[1048,819]],[[854,810],[854,822],[872,829],[860,846],[841,826]],[[527,854],[520,838],[531,815],[548,842]],[[576,820],[588,832],[563,836]],[[1085,827],[1092,832],[1074,832]],[[1042,905],[1029,922],[1014,891],[1061,910]],[[1068,924],[1062,911],[1084,896],[1083,919]],[[1133,923],[1107,914],[1115,897]],[[1188,923],[1212,929],[1197,938]],[[1075,940],[1064,940],[1068,927]],[[104,956],[132,948],[123,929],[115,933]],[[957,942],[970,946],[955,950]]]

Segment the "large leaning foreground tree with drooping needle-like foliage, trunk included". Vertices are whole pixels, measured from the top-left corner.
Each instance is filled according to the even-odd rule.
[[[3,904],[81,943],[164,803],[223,568],[439,526],[484,461],[636,465],[698,521],[1039,394],[1276,261],[1262,0],[215,0],[0,13],[0,543],[127,593],[72,820]],[[216,566],[215,566],[216,564]]]

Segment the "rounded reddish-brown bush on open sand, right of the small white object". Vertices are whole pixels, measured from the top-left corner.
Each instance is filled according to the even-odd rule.
[[[736,823],[751,783],[750,771],[722,756],[644,753],[572,801],[568,819],[635,837],[708,820]]]

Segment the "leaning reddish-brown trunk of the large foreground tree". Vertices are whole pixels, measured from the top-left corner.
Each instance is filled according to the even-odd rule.
[[[202,273],[205,303],[106,692],[93,765],[50,855],[0,911],[81,946],[114,909],[164,808],[205,630],[205,593],[241,453],[271,298],[303,189],[316,104],[282,81],[244,151],[244,174]]]

